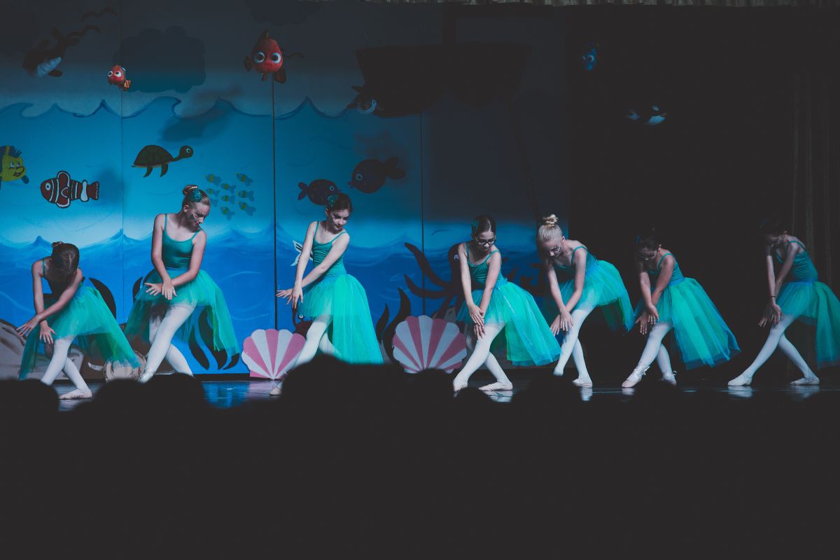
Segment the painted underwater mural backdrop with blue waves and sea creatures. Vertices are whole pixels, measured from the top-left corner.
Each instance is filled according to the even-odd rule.
[[[31,317],[29,267],[64,241],[125,322],[152,268],[155,215],[176,212],[187,184],[211,198],[202,267],[240,343],[305,332],[275,291],[293,283],[307,224],[338,192],[354,204],[345,264],[390,358],[406,317],[454,321],[453,248],[475,214],[496,217],[502,274],[538,290],[534,217],[568,213],[562,13],[291,0],[0,9],[18,22],[0,35],[0,320]],[[248,371],[197,332],[181,348],[194,371]]]

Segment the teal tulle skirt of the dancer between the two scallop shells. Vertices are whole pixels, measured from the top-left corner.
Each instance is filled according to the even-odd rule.
[[[336,358],[350,364],[382,363],[367,294],[353,276],[322,276],[307,285],[297,312],[307,320],[331,317],[327,337],[333,343]]]

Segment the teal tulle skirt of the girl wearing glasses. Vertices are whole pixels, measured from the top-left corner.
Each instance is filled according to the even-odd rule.
[[[480,305],[484,290],[473,290],[472,300]],[[472,326],[466,303],[458,311],[458,321]],[[543,365],[559,358],[560,345],[540,314],[533,296],[512,282],[496,283],[484,315],[486,325],[505,323],[491,345],[491,351],[506,349],[514,365]]]

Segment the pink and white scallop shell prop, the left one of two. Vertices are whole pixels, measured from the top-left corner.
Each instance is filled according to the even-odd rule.
[[[242,344],[242,361],[251,377],[281,379],[295,364],[306,339],[283,329],[257,329]]]

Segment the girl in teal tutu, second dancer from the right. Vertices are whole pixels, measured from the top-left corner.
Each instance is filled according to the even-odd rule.
[[[686,369],[721,364],[740,352],[735,336],[706,291],[696,280],[682,275],[676,257],[662,249],[653,228],[636,238],[636,256],[642,290],[636,322],[639,332],[648,335],[648,343],[622,387],[633,387],[641,381],[654,359],[662,370],[662,380],[676,385],[676,372],[663,345],[671,331]]]

